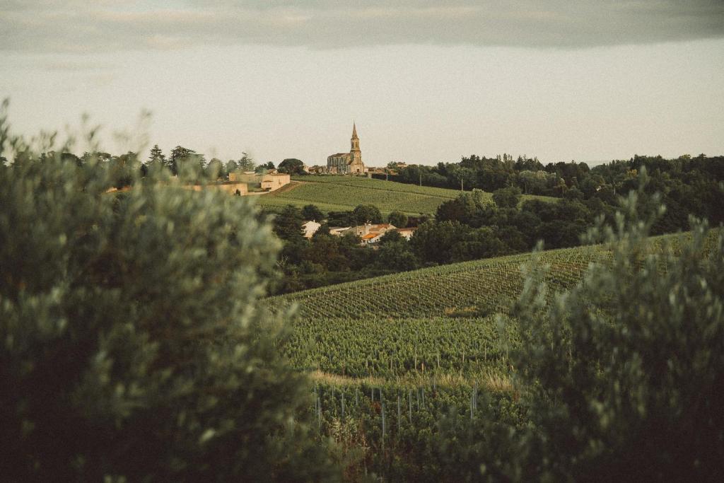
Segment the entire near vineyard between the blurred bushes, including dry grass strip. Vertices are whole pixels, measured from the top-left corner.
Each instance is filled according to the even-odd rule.
[[[664,240],[678,249],[673,235],[655,238],[650,251],[659,252]],[[511,383],[521,368],[508,358],[518,326],[506,310],[530,259],[469,261],[267,299],[273,310],[298,305],[283,350],[311,374],[309,410],[319,433],[354,432],[366,442],[369,469],[395,479],[400,468],[415,475],[450,415],[460,431],[476,418],[526,424]],[[555,292],[580,281],[590,263],[609,260],[610,251],[565,248],[540,259]]]

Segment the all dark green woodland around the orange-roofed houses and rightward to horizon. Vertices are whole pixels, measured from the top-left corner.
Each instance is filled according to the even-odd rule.
[[[277,227],[293,227],[283,233],[277,229],[277,234],[285,240],[282,250],[285,276],[274,291],[286,293],[425,266],[522,253],[534,248],[539,240],[546,248],[576,246],[581,244],[581,236],[597,219],[615,222],[620,200],[628,193],[639,191],[643,172],[646,172],[647,182],[641,189],[639,209],[651,211],[657,203],[666,206],[665,212],[652,224],[652,235],[689,230],[691,216],[706,219],[715,226],[724,222],[724,156],[682,156],[669,160],[660,156],[634,156],[629,161],[612,161],[590,170],[583,163],[549,164],[539,170],[542,177],[555,175],[561,180],[560,186],[565,185],[556,201],[521,201],[523,190],[517,185],[505,185],[511,176],[519,177],[529,171],[523,169],[516,174],[516,169],[538,166],[536,160],[512,161],[507,155],[503,159],[471,156],[463,159],[460,165],[412,166],[403,168],[401,173],[412,176],[416,169],[422,169],[441,176],[441,169],[447,170],[448,174],[456,169],[472,170],[469,174],[475,171],[471,167],[476,166],[480,168],[476,173],[484,180],[485,188],[502,185],[493,190],[493,203],[489,203],[481,190],[473,188],[442,203],[434,215],[411,219],[397,212],[384,219],[374,206],[358,206],[354,211],[329,214],[321,213],[316,206],[308,206],[306,211],[287,206],[277,214],[274,222]],[[503,169],[506,166],[512,167],[510,172]],[[500,177],[489,177],[490,169],[500,169]],[[486,184],[489,182],[493,184]],[[531,186],[528,186],[529,192],[534,190]],[[544,193],[555,192],[539,191],[539,194]],[[325,223],[311,240],[302,238],[298,229],[307,219]],[[325,241],[324,245],[318,241],[327,236],[329,226],[385,221],[395,227],[418,229],[409,243],[404,240],[390,243],[395,235],[386,235],[376,251],[360,247],[359,239],[353,235],[348,235],[351,238],[344,243],[338,237]],[[325,256],[329,258],[325,259]]]

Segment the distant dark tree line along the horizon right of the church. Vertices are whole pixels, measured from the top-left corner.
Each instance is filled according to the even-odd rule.
[[[662,156],[635,155],[628,160],[614,160],[589,168],[586,163],[557,162],[543,165],[536,158],[503,154],[494,158],[471,155],[458,163],[438,163],[436,166],[413,164],[388,169],[394,175],[390,180],[440,188],[464,190],[480,189],[492,193],[500,188],[517,187],[528,195],[554,196],[571,200],[599,199],[616,206],[618,196],[626,196],[638,186],[638,173],[646,168],[649,173],[647,193],[659,192],[668,206],[665,219],[656,230],[686,229],[688,214],[721,221],[722,201],[719,183],[724,181],[724,156],[691,157],[688,154],[675,159]]]

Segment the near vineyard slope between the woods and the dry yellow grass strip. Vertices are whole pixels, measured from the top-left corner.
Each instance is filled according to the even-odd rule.
[[[656,238],[654,249],[661,240],[676,244],[678,238]],[[580,281],[592,261],[609,257],[602,246],[541,253],[554,292]],[[435,374],[454,385],[493,381],[500,389],[509,386],[496,314],[511,321],[506,333],[515,340],[515,322],[505,312],[520,293],[521,265],[530,259],[526,253],[468,261],[267,301],[274,310],[298,306],[285,352],[300,369],[316,369],[318,379],[343,375],[350,385],[365,378],[405,385]]]

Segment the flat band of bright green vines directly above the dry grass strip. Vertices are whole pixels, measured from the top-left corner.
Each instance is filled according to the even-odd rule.
[[[502,371],[495,319],[301,318],[294,324],[287,356],[300,369],[357,378]],[[515,340],[514,324],[506,327],[506,337]]]

